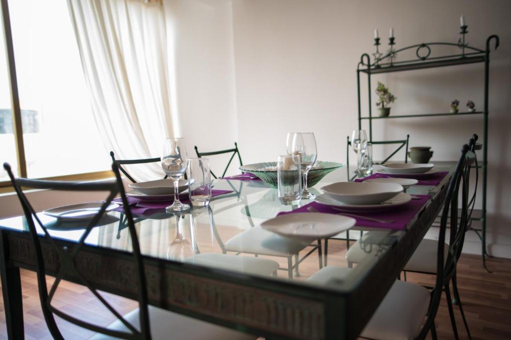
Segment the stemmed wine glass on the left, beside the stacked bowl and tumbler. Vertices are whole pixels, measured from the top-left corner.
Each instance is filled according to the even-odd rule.
[[[190,210],[190,205],[179,200],[179,178],[187,171],[188,156],[184,138],[166,138],[161,155],[163,171],[174,181],[174,203],[165,208],[167,213],[180,213]]]

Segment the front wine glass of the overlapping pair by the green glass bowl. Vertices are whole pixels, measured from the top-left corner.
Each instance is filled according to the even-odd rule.
[[[307,190],[307,175],[317,159],[316,138],[312,132],[296,133],[293,136],[292,154],[300,156],[301,174],[304,178],[304,191],[301,198],[314,199],[316,196]]]

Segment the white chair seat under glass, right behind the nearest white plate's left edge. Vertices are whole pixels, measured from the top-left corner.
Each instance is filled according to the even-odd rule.
[[[225,242],[225,250],[273,256],[294,255],[310,244],[310,241],[282,237],[261,227],[252,227],[240,232]]]

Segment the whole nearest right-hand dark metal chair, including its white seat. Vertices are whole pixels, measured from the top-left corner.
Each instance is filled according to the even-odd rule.
[[[456,263],[461,254],[465,232],[469,223],[468,173],[470,167],[475,163],[475,154],[469,149],[468,145],[463,146],[460,159],[449,181],[438,232],[435,286],[431,292],[428,292],[425,287],[418,284],[397,280],[365,326],[361,334],[362,337],[424,339],[428,332],[431,332],[432,338],[436,339],[434,319],[442,298],[442,292],[445,291],[453,331],[455,337],[458,338],[451,303],[450,282],[456,273]],[[460,190],[461,202],[458,198]],[[461,203],[460,212],[458,212],[458,203]],[[450,222],[450,240],[449,246],[446,248],[444,243],[448,222]],[[377,256],[376,253],[371,254]],[[345,278],[351,270],[350,268],[328,266],[311,276],[309,280],[317,283],[328,283],[332,279]],[[468,330],[461,304],[459,307],[463,322]],[[426,321],[424,321],[425,316]],[[410,327],[410,325],[412,326]]]

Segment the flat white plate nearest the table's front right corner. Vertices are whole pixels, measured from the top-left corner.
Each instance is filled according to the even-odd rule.
[[[355,219],[342,215],[294,213],[267,220],[261,227],[288,238],[323,239],[353,227],[355,222]]]

